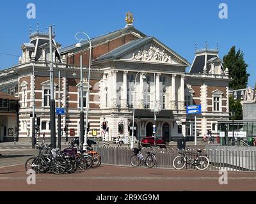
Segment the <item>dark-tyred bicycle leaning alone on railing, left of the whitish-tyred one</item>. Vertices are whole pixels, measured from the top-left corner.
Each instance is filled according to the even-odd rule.
[[[140,166],[141,161],[147,165],[148,168],[152,168],[156,164],[156,156],[150,152],[147,153],[147,157],[144,158],[140,148],[133,149],[134,154],[132,154],[130,162],[132,166]]]

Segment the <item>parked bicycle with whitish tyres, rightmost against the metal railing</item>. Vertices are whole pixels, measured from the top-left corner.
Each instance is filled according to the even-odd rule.
[[[181,170],[189,164],[190,167],[195,166],[198,170],[206,170],[209,166],[209,159],[201,156],[202,150],[198,149],[194,158],[189,157],[187,151],[179,152],[179,156],[173,159],[173,166],[177,170]]]

